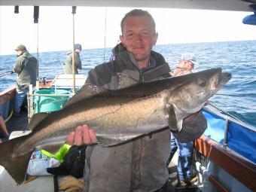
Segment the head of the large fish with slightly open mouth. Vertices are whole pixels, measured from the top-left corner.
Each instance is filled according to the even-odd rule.
[[[175,105],[176,111],[184,114],[194,114],[200,111],[206,101],[221,87],[227,84],[231,74],[221,72],[221,69],[209,69],[194,74],[183,75],[183,84],[172,90],[169,103]]]

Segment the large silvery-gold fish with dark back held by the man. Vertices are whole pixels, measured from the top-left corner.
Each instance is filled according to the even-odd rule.
[[[142,84],[122,74],[117,78],[124,88],[105,90],[85,84],[61,110],[35,114],[28,127],[32,133],[0,144],[0,165],[18,184],[23,183],[32,152],[45,149],[54,153],[82,123],[94,130],[98,145],[106,147],[166,126],[182,133],[182,120],[200,111],[231,75],[209,69]],[[182,134],[180,138],[187,137]]]

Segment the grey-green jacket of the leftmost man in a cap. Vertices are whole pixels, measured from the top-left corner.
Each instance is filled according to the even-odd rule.
[[[29,84],[35,86],[37,71],[37,60],[27,50],[17,57],[13,72],[18,74],[17,88],[29,89]]]

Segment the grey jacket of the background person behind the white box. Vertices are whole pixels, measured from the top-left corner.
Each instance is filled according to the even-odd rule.
[[[75,74],[78,74],[78,69],[82,69],[81,59],[78,52],[75,53]],[[72,74],[72,52],[68,53],[66,62],[63,64],[66,74]]]

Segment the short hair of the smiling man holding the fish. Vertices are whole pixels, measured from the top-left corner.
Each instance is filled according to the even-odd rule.
[[[154,32],[156,32],[156,23],[154,23],[154,19],[151,16],[151,14],[149,14],[148,11],[144,11],[142,9],[133,9],[132,11],[125,14],[123,19],[121,20],[120,26],[121,26],[122,34],[123,34],[124,21],[126,20],[127,17],[148,17],[148,19],[151,21],[151,25],[154,29]]]

